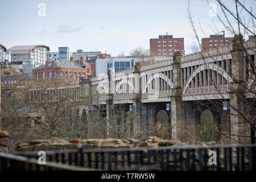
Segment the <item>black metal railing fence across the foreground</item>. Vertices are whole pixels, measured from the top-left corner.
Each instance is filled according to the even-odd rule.
[[[38,152],[11,152],[38,159]],[[46,151],[46,161],[90,169],[126,170],[147,167],[153,170],[255,171],[256,145],[169,146],[157,148],[105,148]],[[1,158],[2,166],[6,165]],[[1,167],[1,166],[0,166]]]

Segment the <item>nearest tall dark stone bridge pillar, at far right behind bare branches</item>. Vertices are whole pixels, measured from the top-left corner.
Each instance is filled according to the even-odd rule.
[[[229,92],[230,99],[230,129],[232,144],[250,143],[250,124],[245,117],[245,57],[243,51],[243,36],[235,35],[232,44],[232,75],[233,82]],[[252,122],[252,121],[251,121]]]

